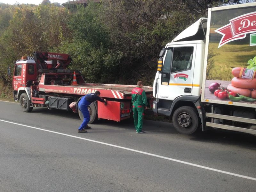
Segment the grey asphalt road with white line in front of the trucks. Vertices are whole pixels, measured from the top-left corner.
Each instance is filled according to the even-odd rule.
[[[0,101],[0,191],[254,192],[256,136],[176,132],[170,123],[102,120],[77,133],[77,114],[21,111]]]

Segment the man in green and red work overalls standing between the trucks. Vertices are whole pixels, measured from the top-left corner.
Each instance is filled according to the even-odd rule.
[[[132,89],[132,111],[134,126],[137,133],[144,133],[144,131],[142,130],[144,108],[148,108],[146,92],[142,89],[142,87],[142,81],[138,81],[137,87]]]

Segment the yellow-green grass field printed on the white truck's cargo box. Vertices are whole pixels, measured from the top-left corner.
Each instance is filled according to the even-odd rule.
[[[247,67],[248,60],[256,55],[255,48],[248,44],[225,44],[218,49],[219,43],[210,43],[209,49],[214,54],[218,54],[212,59],[214,60],[215,68],[210,71],[212,80],[230,81],[233,76],[231,74],[234,67]]]

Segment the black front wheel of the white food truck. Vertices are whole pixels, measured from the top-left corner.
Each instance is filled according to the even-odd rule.
[[[179,133],[192,134],[199,124],[196,109],[189,106],[176,109],[172,116],[172,124]]]

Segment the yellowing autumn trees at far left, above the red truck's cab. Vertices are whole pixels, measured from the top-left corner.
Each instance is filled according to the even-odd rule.
[[[15,5],[3,12],[9,13],[6,20],[2,19],[2,14],[0,16],[3,31],[0,35],[0,78],[5,82],[8,79],[6,68],[13,61],[34,51],[54,51],[70,34],[66,24],[68,12],[64,7]]]

